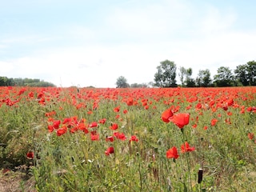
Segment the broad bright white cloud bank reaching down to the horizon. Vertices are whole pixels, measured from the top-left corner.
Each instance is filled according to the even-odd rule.
[[[57,86],[114,87],[121,75],[130,84],[154,81],[156,67],[166,59],[191,67],[194,78],[198,70],[210,69],[213,76],[219,66],[234,70],[254,60],[251,47],[256,43],[256,31],[235,31],[238,14],[234,10],[203,8],[174,0],[144,6],[127,3],[126,7],[112,7],[93,26],[76,23],[54,29],[64,46],[38,46],[40,50],[38,42],[50,43],[54,37],[38,34],[2,39],[2,50],[15,43],[26,46],[34,42],[35,48],[22,57],[0,61],[2,74],[41,77]]]

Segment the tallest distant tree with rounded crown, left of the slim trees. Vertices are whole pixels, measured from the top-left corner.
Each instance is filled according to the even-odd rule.
[[[165,60],[160,62],[157,66],[157,73],[154,74],[154,86],[158,87],[175,87],[176,83],[176,69],[177,66],[174,62]]]

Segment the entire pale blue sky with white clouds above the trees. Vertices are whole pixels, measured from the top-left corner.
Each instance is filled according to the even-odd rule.
[[[220,66],[256,60],[254,7],[253,0],[1,1],[0,76],[115,87],[121,75],[153,82],[168,59],[191,67],[193,78],[206,69],[213,78]]]

